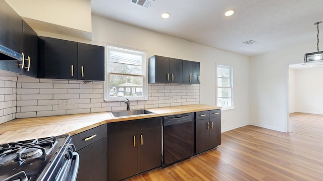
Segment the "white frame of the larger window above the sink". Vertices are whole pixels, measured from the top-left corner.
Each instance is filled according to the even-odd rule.
[[[110,72],[110,51],[120,51],[134,54],[142,54],[142,62],[141,62],[141,75],[133,75],[133,74],[124,74],[124,73],[114,73]],[[119,45],[107,44],[105,43],[105,60],[104,60],[104,82],[103,82],[103,100],[105,102],[114,102],[114,101],[124,101],[125,99],[129,99],[131,101],[146,101],[148,100],[148,60],[147,60],[147,51],[123,47]],[[110,75],[124,75],[124,76],[139,76],[142,77],[142,97],[110,97]],[[133,87],[131,87],[133,88]],[[141,88],[141,87],[140,87]]]

